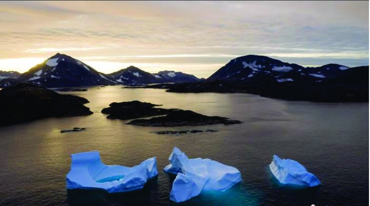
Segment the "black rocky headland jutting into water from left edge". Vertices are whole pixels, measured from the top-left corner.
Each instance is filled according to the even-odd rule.
[[[21,83],[0,91],[0,126],[47,117],[83,116],[93,112],[83,104],[88,100],[61,95],[33,84]]]

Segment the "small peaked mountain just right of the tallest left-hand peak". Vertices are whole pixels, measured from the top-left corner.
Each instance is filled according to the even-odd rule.
[[[117,84],[141,85],[159,83],[157,77],[134,66],[107,74],[107,76]]]

